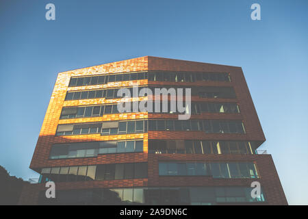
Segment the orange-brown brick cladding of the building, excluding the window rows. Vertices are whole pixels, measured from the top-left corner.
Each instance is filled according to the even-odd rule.
[[[162,81],[120,81],[96,86],[68,87],[70,77],[101,75],[113,73],[129,73],[140,71],[181,71],[181,72],[211,72],[211,73],[229,73],[231,82],[222,81],[196,81],[181,82],[183,86],[231,86],[235,90],[237,99],[201,99],[198,96],[192,96],[192,101],[218,101],[234,102],[240,107],[240,114],[200,114],[192,115],[195,119],[222,119],[222,120],[242,120],[246,129],[245,134],[205,134],[198,131],[149,131],[148,133],[134,133],[114,136],[101,136],[100,134],[79,135],[79,136],[55,136],[58,124],[66,123],[89,123],[111,120],[134,120],[148,118],[173,118],[176,115],[166,114],[148,114],[148,113],[126,113],[126,114],[105,114],[94,118],[75,118],[60,120],[62,107],[77,105],[93,105],[102,103],[118,103],[119,99],[86,99],[78,101],[64,101],[66,92],[72,90],[90,90],[97,88],[119,88],[123,86],[138,85],[179,85],[175,82]],[[133,101],[146,99],[148,97],[136,98]],[[150,98],[150,96],[149,96]],[[90,142],[102,140],[144,140],[143,153],[129,154],[108,154],[98,157],[87,157],[78,159],[49,159],[51,146],[61,142]],[[235,162],[255,162],[259,172],[261,186],[266,194],[269,205],[287,205],[287,200],[279,181],[277,170],[272,161],[271,155],[196,155],[196,154],[148,154],[148,140],[249,140],[264,142],[266,139],[259,123],[259,118],[251,99],[242,68],[235,66],[224,66],[217,64],[206,64],[201,62],[188,62],[182,60],[171,60],[161,57],[138,57],[131,60],[112,62],[88,68],[69,70],[57,75],[55,87],[51,94],[51,99],[47,112],[42,123],[38,142],[31,160],[30,168],[40,171],[41,168],[52,166],[76,166],[91,164],[115,164],[130,162],[148,162],[147,179],[123,179],[111,181],[86,181],[57,183],[58,190],[76,189],[76,188],[127,188],[142,186],[228,186],[242,185],[249,187],[252,181],[256,179],[212,179],[211,177],[159,177],[159,161],[235,161]],[[21,205],[35,205],[37,203],[38,192],[44,190],[42,184],[32,184],[25,186],[21,199]]]

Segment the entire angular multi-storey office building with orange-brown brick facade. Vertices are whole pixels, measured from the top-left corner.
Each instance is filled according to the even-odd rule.
[[[190,119],[170,104],[136,110],[162,97],[117,93],[136,85],[191,88]],[[119,112],[123,102],[131,112]],[[57,75],[30,164],[39,183],[20,204],[287,205],[271,155],[258,151],[265,140],[240,67],[145,56],[69,70]]]

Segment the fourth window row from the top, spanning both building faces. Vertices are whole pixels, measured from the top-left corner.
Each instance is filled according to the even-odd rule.
[[[147,132],[147,120],[58,125],[56,136],[101,133],[116,135]],[[205,133],[245,133],[238,120],[149,120],[149,131],[205,131]]]

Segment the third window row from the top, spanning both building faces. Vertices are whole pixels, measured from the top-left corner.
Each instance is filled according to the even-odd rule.
[[[140,102],[133,102],[137,105],[140,105]],[[130,110],[129,112],[136,112],[142,110],[138,108],[138,110],[133,109],[133,103],[129,103]],[[160,110],[157,113],[162,112],[162,105],[160,104]],[[168,105],[168,114],[178,113],[172,112],[170,108],[170,102],[166,103]],[[145,103],[145,107],[146,107]],[[124,105],[123,105],[124,107]],[[143,111],[143,110],[142,110]],[[144,110],[146,111],[146,110]],[[186,110],[187,111],[187,110]],[[126,111],[125,111],[126,112]],[[153,103],[153,113],[155,112],[155,103]],[[211,113],[240,113],[238,109],[238,105],[236,103],[192,103],[191,105],[191,114],[201,114],[201,112],[211,112]],[[104,114],[118,114],[118,104],[114,105],[94,105],[94,106],[82,106],[82,107],[64,107],[62,109],[62,113],[60,119],[66,118],[86,118],[86,117],[95,117],[95,116],[103,116]]]

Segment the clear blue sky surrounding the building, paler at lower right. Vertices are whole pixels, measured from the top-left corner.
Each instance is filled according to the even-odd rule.
[[[244,70],[287,200],[307,205],[307,14],[307,0],[0,0],[0,165],[37,177],[29,164],[59,72],[144,55],[227,64]]]

